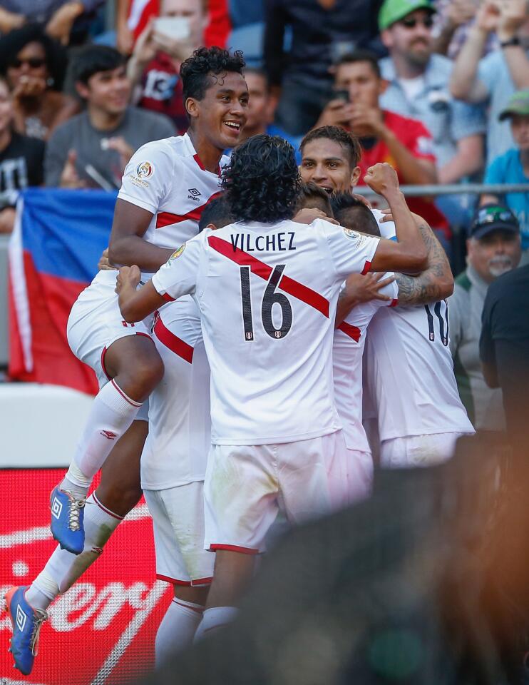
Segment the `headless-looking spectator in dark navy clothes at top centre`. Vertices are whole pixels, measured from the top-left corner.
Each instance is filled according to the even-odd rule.
[[[265,69],[279,98],[277,123],[303,136],[332,96],[329,67],[359,47],[381,50],[381,0],[266,0]],[[284,54],[289,27],[292,45]],[[377,50],[378,49],[378,50]]]

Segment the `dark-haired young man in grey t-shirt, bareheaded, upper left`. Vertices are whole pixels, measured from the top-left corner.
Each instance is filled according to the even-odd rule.
[[[119,188],[123,170],[145,143],[173,136],[173,123],[130,107],[125,57],[105,46],[86,46],[72,64],[86,111],[56,128],[44,162],[46,186]]]

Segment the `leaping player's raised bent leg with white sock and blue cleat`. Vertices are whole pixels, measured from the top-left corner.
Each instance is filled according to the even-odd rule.
[[[96,395],[66,477],[51,493],[53,537],[74,554],[84,547],[84,501],[93,476],[128,430],[163,376],[163,363],[147,335],[128,335],[105,353],[111,382]]]

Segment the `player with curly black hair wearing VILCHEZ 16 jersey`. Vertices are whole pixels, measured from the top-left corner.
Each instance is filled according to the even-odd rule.
[[[353,271],[426,266],[393,169],[376,165],[366,182],[391,198],[398,243],[324,220],[310,230],[292,222],[294,150],[280,138],[254,136],[235,148],[222,178],[237,223],[188,240],[140,290],[139,268],[120,269],[125,321],[186,294],[200,309],[212,392],[205,544],[216,552],[202,634],[232,617],[279,497],[292,522],[346,499],[347,455],[332,390],[341,283]]]

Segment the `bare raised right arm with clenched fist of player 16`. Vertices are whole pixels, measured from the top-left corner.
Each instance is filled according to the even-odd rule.
[[[380,241],[371,260],[370,270],[417,273],[426,269],[426,245],[401,193],[394,168],[386,162],[375,164],[367,170],[364,181],[389,204],[399,239],[398,243],[391,240]]]

